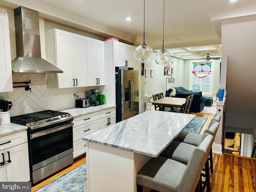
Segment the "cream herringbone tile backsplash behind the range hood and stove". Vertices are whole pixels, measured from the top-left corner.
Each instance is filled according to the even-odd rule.
[[[16,58],[16,40],[15,40],[15,26],[14,26],[14,12],[13,9],[0,6],[0,14],[8,16],[10,28],[10,49],[12,60]],[[44,19],[39,18],[40,29],[40,44],[41,57],[46,58],[45,55],[45,36],[44,36]],[[95,89],[94,87],[81,88],[47,88],[46,74],[40,73],[13,73],[13,82],[26,82],[29,84],[31,92],[24,88],[14,88],[13,92],[0,93],[0,98],[12,101],[13,105],[10,110],[11,116],[19,114],[26,114],[41,110],[63,110],[75,107],[75,97],[73,93],[78,94],[81,98],[85,98],[86,90]],[[26,84],[17,84],[26,85]]]

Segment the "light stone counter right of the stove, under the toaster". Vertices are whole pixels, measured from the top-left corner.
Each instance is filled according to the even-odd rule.
[[[115,105],[104,104],[104,105],[98,105],[98,106],[90,106],[90,107],[86,107],[86,108],[70,108],[70,109],[60,110],[60,111],[67,112],[74,117],[79,117],[82,115],[110,109],[112,107],[115,107]]]

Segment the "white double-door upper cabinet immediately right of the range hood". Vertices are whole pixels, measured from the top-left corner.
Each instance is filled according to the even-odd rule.
[[[52,29],[46,32],[46,59],[63,70],[47,74],[48,88],[88,86],[86,37]]]

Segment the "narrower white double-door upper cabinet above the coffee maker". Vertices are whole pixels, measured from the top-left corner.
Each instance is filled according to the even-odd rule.
[[[105,85],[104,42],[87,37],[88,86]]]

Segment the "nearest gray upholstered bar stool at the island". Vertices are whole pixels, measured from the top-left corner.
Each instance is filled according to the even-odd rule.
[[[162,156],[153,158],[137,175],[137,191],[146,186],[158,192],[194,192],[200,186],[212,142],[213,136],[208,134],[200,147],[192,150],[187,164]]]

